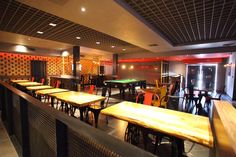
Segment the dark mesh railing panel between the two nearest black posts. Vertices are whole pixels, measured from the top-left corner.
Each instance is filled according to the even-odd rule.
[[[28,117],[31,156],[56,156],[55,119],[31,104]]]

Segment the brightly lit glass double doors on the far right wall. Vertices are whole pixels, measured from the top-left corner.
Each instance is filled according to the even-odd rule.
[[[217,64],[188,64],[186,85],[197,89],[215,90],[217,83]]]

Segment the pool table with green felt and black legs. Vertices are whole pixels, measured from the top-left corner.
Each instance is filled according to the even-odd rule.
[[[125,96],[125,89],[131,89],[131,93],[135,94],[135,87],[146,88],[146,80],[137,79],[122,79],[122,80],[106,80],[105,85],[109,88],[109,95],[111,95],[111,88],[119,88],[120,95]]]

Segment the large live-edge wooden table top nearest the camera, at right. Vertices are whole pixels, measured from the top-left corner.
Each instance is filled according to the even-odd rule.
[[[154,131],[213,147],[213,135],[208,117],[127,101],[107,107],[101,113]]]

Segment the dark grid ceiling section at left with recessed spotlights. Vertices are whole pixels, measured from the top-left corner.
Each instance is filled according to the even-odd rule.
[[[49,26],[49,23],[57,26]],[[148,51],[15,0],[0,0],[0,30],[116,53]],[[37,31],[44,33],[37,34]],[[115,48],[111,48],[112,45]]]

